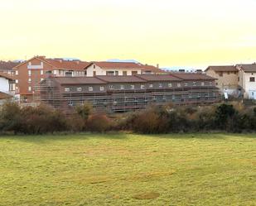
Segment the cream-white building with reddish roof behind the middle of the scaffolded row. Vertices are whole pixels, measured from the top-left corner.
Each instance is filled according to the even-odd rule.
[[[87,76],[96,75],[136,75],[136,74],[161,74],[162,69],[152,65],[142,65],[134,62],[109,62],[94,61],[85,67]]]

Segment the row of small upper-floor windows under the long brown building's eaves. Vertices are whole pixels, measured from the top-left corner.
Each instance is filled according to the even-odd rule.
[[[201,82],[201,86],[204,86],[204,85],[205,85],[205,83]],[[212,85],[212,82],[210,82],[210,85]],[[171,88],[172,86],[173,85],[171,83],[168,84],[169,88]],[[188,86],[188,83],[185,83],[185,86]],[[196,82],[193,83],[193,86],[196,86]],[[177,83],[177,87],[181,87],[181,83]],[[153,88],[153,84],[149,84],[148,88]],[[159,84],[159,88],[162,88],[162,83]],[[114,89],[114,85],[109,85],[109,89]],[[124,89],[124,85],[120,85],[119,89]],[[130,89],[135,89],[135,85],[131,84],[130,85]],[[140,89],[145,89],[145,85],[141,84],[140,85]],[[89,87],[88,90],[89,90],[89,92],[92,92],[92,91],[94,91],[94,88],[93,87]],[[99,90],[100,91],[104,91],[104,86],[100,86]],[[76,91],[77,92],[81,92],[82,88],[81,87],[76,88]],[[70,92],[70,88],[65,88],[65,92]]]

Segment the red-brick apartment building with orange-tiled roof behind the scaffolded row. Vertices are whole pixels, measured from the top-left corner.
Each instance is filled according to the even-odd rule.
[[[88,62],[80,60],[46,59],[45,56],[35,56],[16,65],[16,93],[22,103],[33,102],[36,86],[49,74],[56,76],[85,76]]]

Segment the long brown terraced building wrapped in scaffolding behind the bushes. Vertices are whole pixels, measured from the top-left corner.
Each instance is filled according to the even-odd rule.
[[[54,77],[41,82],[38,102],[72,113],[91,103],[95,111],[127,112],[148,105],[202,104],[220,101],[215,79],[205,74],[136,74]]]

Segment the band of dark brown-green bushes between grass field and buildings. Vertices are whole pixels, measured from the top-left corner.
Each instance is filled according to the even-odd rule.
[[[255,132],[256,107],[243,104],[212,106],[174,106],[147,108],[136,113],[123,113],[109,118],[92,113],[88,103],[65,115],[46,105],[24,107],[7,102],[0,110],[0,132],[15,134],[45,134],[53,132],[108,132],[138,133],[168,132]]]

